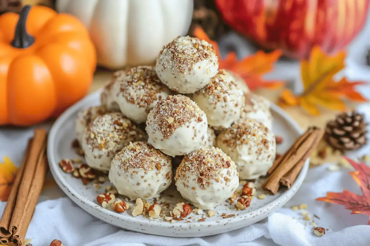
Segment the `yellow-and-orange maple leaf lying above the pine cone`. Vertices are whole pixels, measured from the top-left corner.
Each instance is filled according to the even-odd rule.
[[[333,76],[344,68],[346,53],[338,52],[336,55],[326,55],[319,46],[315,46],[310,54],[309,60],[301,62],[301,76],[304,91],[295,96],[285,89],[279,98],[279,105],[282,107],[300,105],[307,112],[313,115],[320,115],[317,105],[332,110],[345,110],[342,98],[356,102],[366,102],[355,86],[365,82],[349,82],[343,78],[339,82]]]

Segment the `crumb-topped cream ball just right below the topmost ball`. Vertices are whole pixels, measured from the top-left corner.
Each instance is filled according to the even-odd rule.
[[[229,128],[240,118],[244,93],[230,73],[221,69],[211,82],[194,93],[192,99],[206,113],[208,124],[216,129]]]

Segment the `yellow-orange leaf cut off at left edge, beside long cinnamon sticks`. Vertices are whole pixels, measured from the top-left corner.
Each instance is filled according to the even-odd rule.
[[[5,156],[4,163],[0,163],[0,201],[8,200],[16,172],[17,167]]]

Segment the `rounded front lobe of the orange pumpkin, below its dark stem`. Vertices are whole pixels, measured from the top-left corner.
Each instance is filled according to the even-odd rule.
[[[23,67],[22,73],[18,72],[19,67]],[[45,61],[34,55],[18,56],[11,61],[6,80],[9,123],[21,126],[34,124],[53,113],[55,97],[51,93],[55,91],[55,85],[49,75]],[[27,84],[24,83],[24,76],[30,77]]]

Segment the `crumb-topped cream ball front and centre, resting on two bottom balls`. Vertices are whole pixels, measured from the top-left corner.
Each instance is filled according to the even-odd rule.
[[[169,156],[185,155],[208,139],[206,114],[182,95],[168,96],[149,112],[148,143]]]

